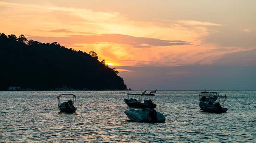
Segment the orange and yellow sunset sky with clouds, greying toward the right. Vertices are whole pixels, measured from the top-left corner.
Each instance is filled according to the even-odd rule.
[[[89,53],[133,90],[256,90],[256,1],[0,0],[0,32]]]

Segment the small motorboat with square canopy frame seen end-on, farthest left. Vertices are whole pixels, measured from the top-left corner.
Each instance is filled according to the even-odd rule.
[[[60,97],[62,95],[72,95],[73,100],[68,100],[67,102],[60,102]],[[76,112],[76,95],[74,94],[58,94],[58,108],[60,112],[75,113]]]

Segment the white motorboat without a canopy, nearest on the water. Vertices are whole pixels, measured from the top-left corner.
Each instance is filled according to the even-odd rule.
[[[155,109],[129,109],[124,111],[131,121],[136,122],[164,122],[164,114]]]

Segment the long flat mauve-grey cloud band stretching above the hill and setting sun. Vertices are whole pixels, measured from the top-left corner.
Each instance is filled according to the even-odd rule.
[[[58,30],[59,31],[59,30]],[[62,31],[62,30],[60,30]],[[64,29],[64,31],[66,31]],[[181,40],[161,40],[148,37],[134,37],[122,34],[100,34],[100,35],[73,35],[68,37],[38,37],[31,36],[34,40],[38,41],[57,41],[65,45],[73,44],[95,44],[95,43],[117,43],[128,44],[135,48],[149,48],[155,46],[172,46],[172,45],[190,45],[186,41]]]

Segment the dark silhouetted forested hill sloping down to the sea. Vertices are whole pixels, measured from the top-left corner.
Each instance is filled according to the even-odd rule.
[[[126,90],[96,53],[0,33],[0,90]]]

